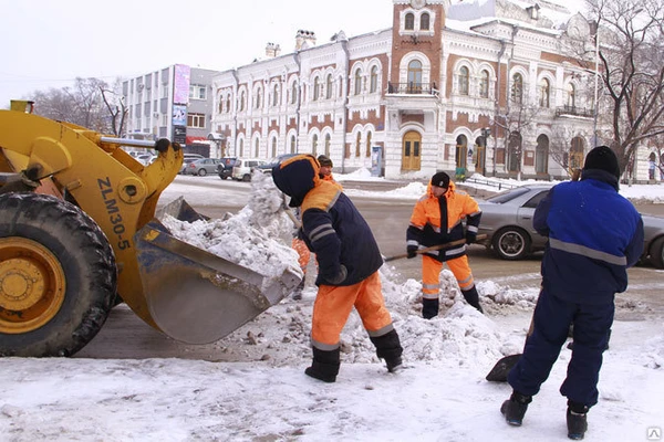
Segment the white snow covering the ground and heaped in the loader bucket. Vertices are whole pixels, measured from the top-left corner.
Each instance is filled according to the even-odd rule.
[[[335,178],[381,180],[366,171]],[[247,207],[230,220],[179,227],[181,238],[194,242],[203,229],[212,240],[199,246],[212,252],[215,239],[222,234],[258,231],[269,232],[271,239],[288,238],[291,228],[269,182],[256,180],[253,186],[257,191]],[[165,197],[186,193],[196,206],[198,193],[186,188],[173,185]],[[417,198],[423,191],[424,185],[415,182],[371,194]],[[664,202],[663,186],[623,187],[621,193]],[[228,223],[236,227],[229,229]],[[224,253],[231,260],[240,260],[241,253],[246,265],[251,265],[251,254],[264,248],[283,266],[292,265],[291,251],[268,240]],[[539,278],[523,290],[483,281],[478,291],[487,314],[480,315],[459,301],[456,282],[444,270],[445,312],[424,320],[417,306],[419,282],[401,282],[395,272],[391,265],[381,270],[387,306],[404,346],[406,369],[397,373],[387,373],[376,359],[353,313],[342,336],[336,382],[307,377],[315,298],[310,287],[301,301],[286,298],[216,343],[238,355],[234,362],[2,358],[0,441],[567,440],[566,399],[558,388],[569,350],[561,351],[521,428],[507,425],[499,412],[509,386],[485,380],[501,356],[520,352]],[[664,278],[653,287],[653,296],[663,294]],[[621,316],[643,320],[614,323],[601,372],[600,403],[589,413],[588,441],[649,440],[657,432],[662,438],[664,430],[664,323],[644,304],[619,303],[616,318]]]

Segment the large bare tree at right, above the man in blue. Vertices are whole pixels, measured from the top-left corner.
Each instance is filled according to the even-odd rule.
[[[588,0],[588,6],[602,83],[595,135],[611,140],[621,170],[630,171],[637,147],[664,134],[664,4]],[[581,63],[594,66],[588,56]]]

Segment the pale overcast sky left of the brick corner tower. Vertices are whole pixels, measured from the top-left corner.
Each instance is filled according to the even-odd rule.
[[[227,70],[294,49],[299,29],[318,44],[343,30],[390,28],[392,0],[0,0],[0,108],[80,77],[112,83],[175,63]]]

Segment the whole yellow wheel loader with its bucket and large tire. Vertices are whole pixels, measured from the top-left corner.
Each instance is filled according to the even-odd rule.
[[[144,166],[121,146],[154,147]],[[155,218],[183,151],[0,110],[0,356],[71,356],[102,328],[116,296],[144,322],[208,344],[279,303],[300,282],[266,277],[175,239]],[[184,200],[164,211],[205,217]]]

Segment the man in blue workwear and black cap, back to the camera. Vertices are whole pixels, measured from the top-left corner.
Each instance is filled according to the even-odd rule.
[[[613,299],[627,287],[626,270],[643,251],[643,221],[618,193],[619,179],[615,154],[595,147],[585,157],[581,180],[554,186],[535,211],[533,227],[549,241],[532,334],[508,375],[511,397],[500,407],[511,425],[521,425],[572,325],[574,346],[560,393],[568,399],[568,436],[583,439],[588,429],[587,413],[598,403]]]

